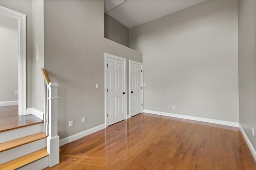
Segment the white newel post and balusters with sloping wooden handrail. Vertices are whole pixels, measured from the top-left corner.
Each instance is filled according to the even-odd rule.
[[[50,82],[48,74],[41,68],[44,76],[44,133],[47,137],[49,166],[60,162],[60,137],[58,136],[58,83]]]

